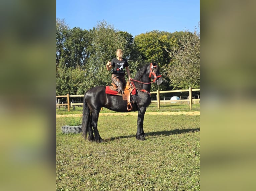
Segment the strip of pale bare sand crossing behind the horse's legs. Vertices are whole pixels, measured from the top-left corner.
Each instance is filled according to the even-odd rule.
[[[177,111],[177,112],[146,112],[145,115],[200,115],[200,111]],[[82,117],[82,113],[79,114],[67,114],[67,115],[56,115],[57,117]],[[127,112],[127,113],[100,113],[100,116],[106,115],[138,115],[138,112]]]

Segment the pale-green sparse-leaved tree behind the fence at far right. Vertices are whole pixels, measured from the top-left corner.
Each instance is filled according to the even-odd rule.
[[[183,32],[180,46],[169,54],[167,76],[174,89],[200,88],[200,33]]]

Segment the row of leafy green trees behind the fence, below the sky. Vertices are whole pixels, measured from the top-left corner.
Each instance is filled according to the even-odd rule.
[[[158,63],[164,83],[151,91],[200,88],[200,33],[150,31],[133,37],[106,21],[93,29],[70,29],[56,19],[56,95],[83,95],[95,86],[111,84],[108,60],[121,48],[131,77],[144,64]]]

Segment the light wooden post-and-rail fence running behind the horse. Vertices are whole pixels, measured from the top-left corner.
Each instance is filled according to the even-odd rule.
[[[161,102],[184,102],[187,101],[189,103],[189,108],[192,110],[192,104],[193,101],[199,101],[200,103],[200,98],[195,99],[192,97],[192,92],[193,91],[200,91],[200,89],[192,89],[189,88],[188,90],[170,90],[170,91],[159,91],[157,90],[156,92],[150,92],[150,94],[156,94],[156,100],[153,100],[151,102],[156,102],[157,103],[157,109],[160,109],[160,103]],[[160,94],[163,93],[173,93],[173,92],[189,92],[188,99],[179,99],[179,100],[160,100]],[[57,101],[57,97],[67,97],[67,103],[60,103],[59,99]],[[83,105],[83,103],[74,103],[74,100],[70,102],[71,97],[84,97],[84,95],[56,95],[56,107],[60,107],[61,105],[65,105],[68,107],[68,111],[70,111],[70,107],[73,106],[73,109],[75,109],[75,105]]]

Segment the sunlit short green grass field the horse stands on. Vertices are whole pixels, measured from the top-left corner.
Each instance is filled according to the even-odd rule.
[[[56,118],[56,190],[200,190],[200,115],[145,115],[145,141],[137,116],[100,116],[104,143],[63,134],[68,120]]]

